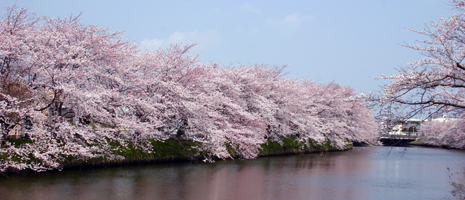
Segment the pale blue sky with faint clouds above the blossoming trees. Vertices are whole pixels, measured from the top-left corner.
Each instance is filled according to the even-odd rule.
[[[190,54],[204,63],[286,64],[288,77],[365,93],[386,83],[373,77],[423,57],[401,47],[425,39],[407,28],[456,12],[447,0],[0,0],[0,10],[14,3],[39,16],[82,12],[81,22],[123,31],[141,49],[198,43]]]

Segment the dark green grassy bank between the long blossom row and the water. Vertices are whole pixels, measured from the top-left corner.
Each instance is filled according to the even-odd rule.
[[[312,154],[312,153],[323,153],[331,151],[346,151],[352,149],[353,144],[348,143],[344,149],[338,149],[334,147],[330,141],[323,144],[315,144],[310,141],[310,146],[307,146],[301,142],[296,141],[295,136],[283,138],[279,144],[276,141],[268,140],[261,145],[258,150],[258,157],[270,157],[270,156],[287,156],[287,155],[299,155],[299,154]],[[127,165],[150,165],[158,163],[181,163],[191,162],[199,163],[203,162],[204,153],[193,150],[194,146],[199,144],[184,140],[177,141],[173,138],[164,141],[153,141],[152,142],[154,153],[143,152],[137,148],[126,148],[122,151],[115,152],[117,155],[121,155],[124,159],[121,160],[107,160],[106,158],[92,158],[88,160],[79,159],[68,159],[62,163],[62,166],[57,169],[46,170],[43,172],[36,172],[30,169],[24,170],[8,170],[7,172],[0,173],[0,177],[8,177],[15,175],[27,175],[27,174],[39,174],[47,172],[60,172],[63,170],[80,170],[80,169],[92,169],[92,168],[107,168],[107,167],[118,167]],[[242,159],[237,156],[237,153],[232,149],[228,148],[228,152],[231,154],[232,159]],[[221,159],[215,159],[221,160]]]

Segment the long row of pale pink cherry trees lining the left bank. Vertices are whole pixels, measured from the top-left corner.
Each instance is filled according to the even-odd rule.
[[[202,64],[187,54],[193,45],[136,47],[79,17],[8,7],[0,21],[0,155],[8,159],[0,172],[59,169],[66,157],[124,159],[111,143],[150,152],[149,138],[194,140],[207,159],[230,158],[228,147],[255,158],[266,140],[289,136],[341,149],[376,139],[371,111],[351,88],[285,78],[281,66]],[[32,142],[7,139],[18,125]]]

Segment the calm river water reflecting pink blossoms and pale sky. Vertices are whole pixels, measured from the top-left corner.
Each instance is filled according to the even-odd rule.
[[[463,173],[465,151],[355,147],[12,176],[0,178],[0,199],[443,199],[452,197],[448,167]]]

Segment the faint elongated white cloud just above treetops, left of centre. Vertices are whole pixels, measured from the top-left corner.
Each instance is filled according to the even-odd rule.
[[[221,43],[221,37],[216,30],[208,31],[190,31],[190,32],[174,32],[167,39],[144,39],[139,48],[142,50],[157,50],[169,47],[170,44],[192,44],[197,43],[196,50],[205,49],[208,46],[213,46]]]

